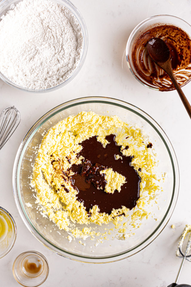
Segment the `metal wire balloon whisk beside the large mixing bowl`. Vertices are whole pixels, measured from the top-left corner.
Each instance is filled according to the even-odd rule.
[[[16,130],[21,120],[18,109],[13,107],[5,108],[0,115],[0,149],[8,141],[10,136]]]

